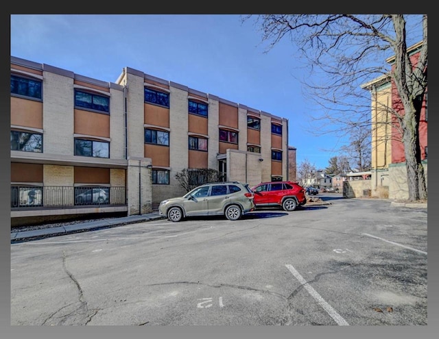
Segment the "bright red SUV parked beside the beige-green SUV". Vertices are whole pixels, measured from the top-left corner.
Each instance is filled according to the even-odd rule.
[[[294,211],[305,205],[305,188],[292,181],[263,182],[252,188],[256,208],[281,207],[285,211]]]

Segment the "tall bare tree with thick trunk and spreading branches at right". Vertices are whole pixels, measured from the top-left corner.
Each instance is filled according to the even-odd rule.
[[[254,15],[244,16],[243,22],[250,17]],[[391,120],[392,127],[401,130],[408,200],[426,199],[419,122],[427,90],[427,15],[261,14],[255,17],[262,41],[270,42],[267,51],[288,36],[309,66],[309,77],[302,81],[309,99],[322,111],[315,118],[315,122],[321,123],[317,129],[320,135],[348,136],[353,127],[370,129],[370,95],[361,84],[383,75],[390,77],[402,103],[400,110],[391,111],[394,116]],[[412,64],[407,51],[409,39],[422,41],[416,64]],[[386,62],[390,57],[394,57],[391,69]]]

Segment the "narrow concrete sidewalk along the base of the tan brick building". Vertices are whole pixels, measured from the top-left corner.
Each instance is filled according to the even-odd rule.
[[[64,225],[60,227],[48,227],[45,229],[35,229],[32,231],[12,232],[11,243],[48,238],[51,236],[65,236],[66,234],[93,231],[95,229],[129,225],[132,223],[142,223],[144,221],[152,221],[163,218],[164,217],[158,214],[158,212],[152,212],[142,215],[123,216],[121,218],[112,218],[99,221],[84,221],[84,223]]]

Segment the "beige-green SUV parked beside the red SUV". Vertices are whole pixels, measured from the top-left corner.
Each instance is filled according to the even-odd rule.
[[[198,186],[183,197],[161,201],[158,212],[170,221],[187,216],[225,215],[235,221],[254,210],[254,194],[248,184],[238,181],[216,182]]]

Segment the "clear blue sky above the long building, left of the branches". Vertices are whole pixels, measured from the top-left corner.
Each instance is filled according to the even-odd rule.
[[[325,168],[339,154],[343,140],[309,133],[316,108],[302,96],[307,69],[294,46],[285,39],[264,53],[257,27],[237,14],[20,14],[10,23],[14,57],[112,82],[135,68],[287,118],[298,165]]]

